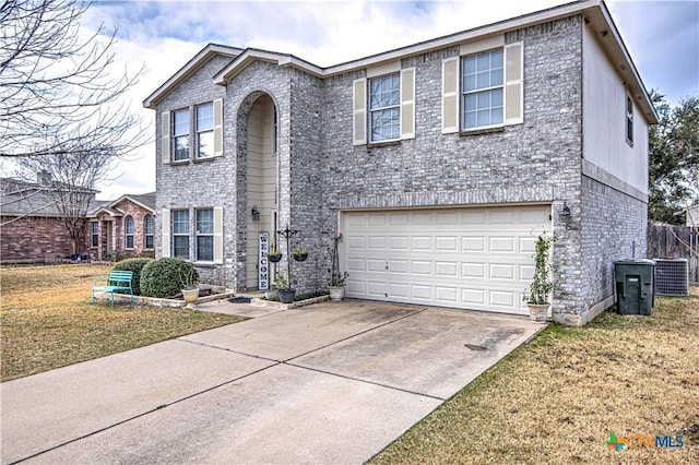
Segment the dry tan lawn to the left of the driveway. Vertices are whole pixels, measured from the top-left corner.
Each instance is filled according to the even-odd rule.
[[[241,318],[183,309],[91,305],[93,279],[106,265],[0,271],[1,380],[47,371]]]

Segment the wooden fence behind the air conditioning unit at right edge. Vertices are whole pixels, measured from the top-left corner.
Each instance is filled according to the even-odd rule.
[[[662,223],[648,224],[649,259],[687,259],[689,281],[699,282],[698,228],[672,226]]]

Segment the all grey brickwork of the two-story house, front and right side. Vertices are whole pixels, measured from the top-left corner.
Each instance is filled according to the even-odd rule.
[[[584,324],[613,295],[611,263],[631,245],[642,255],[647,203],[583,176],[582,28],[578,14],[505,34],[505,44],[524,46],[524,122],[477,134],[441,131],[442,60],[460,48],[403,58],[402,69],[415,68],[415,138],[374,145],[353,145],[353,82],[366,69],[321,79],[257,60],[218,86],[211,76],[230,60],[214,58],[157,102],[157,211],[222,206],[224,263],[200,274],[244,289],[246,261],[256,260],[246,257],[246,118],[266,94],[279,118],[279,224],[311,250],[295,265],[300,293],[324,287],[342,211],[544,203],[556,236],[554,318]],[[161,163],[161,115],[214,98],[224,98],[224,156]],[[156,225],[159,255],[169,245]]]

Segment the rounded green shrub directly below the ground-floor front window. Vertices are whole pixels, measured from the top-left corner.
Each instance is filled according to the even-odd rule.
[[[199,283],[197,269],[182,259],[164,258],[150,261],[141,272],[141,293],[146,297],[175,297],[188,277]]]

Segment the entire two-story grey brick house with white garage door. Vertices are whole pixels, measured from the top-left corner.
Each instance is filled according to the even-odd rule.
[[[534,242],[556,238],[555,321],[614,302],[645,254],[656,114],[605,4],[564,4],[321,68],[209,45],[145,100],[156,116],[157,257],[204,282],[525,313]],[[286,260],[281,267],[285,269]]]

